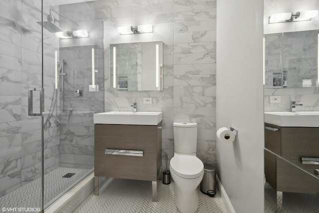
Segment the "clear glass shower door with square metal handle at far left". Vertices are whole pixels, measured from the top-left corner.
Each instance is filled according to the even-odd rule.
[[[0,208],[2,212],[42,211],[43,120],[40,111],[40,91],[43,87],[42,29],[37,23],[41,21],[41,6],[41,0],[1,1]]]

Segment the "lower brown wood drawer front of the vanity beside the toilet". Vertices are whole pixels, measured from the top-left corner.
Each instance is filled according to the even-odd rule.
[[[94,175],[134,180],[157,180],[156,153],[144,153],[143,157],[106,155],[105,151],[95,151]]]

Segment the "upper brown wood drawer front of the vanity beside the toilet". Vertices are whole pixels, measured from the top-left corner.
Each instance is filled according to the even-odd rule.
[[[158,126],[95,124],[95,150],[141,150],[157,153]]]

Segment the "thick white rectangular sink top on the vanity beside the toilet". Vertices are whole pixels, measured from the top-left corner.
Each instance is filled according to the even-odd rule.
[[[93,115],[95,124],[158,125],[161,120],[161,112],[111,111]]]

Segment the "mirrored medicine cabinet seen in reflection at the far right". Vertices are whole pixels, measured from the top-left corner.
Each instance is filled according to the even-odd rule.
[[[264,88],[316,87],[318,30],[265,34]]]

